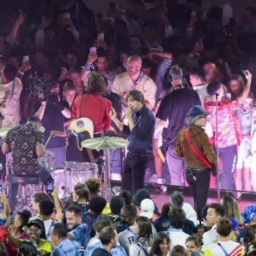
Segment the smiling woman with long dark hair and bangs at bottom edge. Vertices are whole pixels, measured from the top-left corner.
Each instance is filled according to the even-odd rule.
[[[148,256],[170,256],[170,238],[167,233],[157,233]]]

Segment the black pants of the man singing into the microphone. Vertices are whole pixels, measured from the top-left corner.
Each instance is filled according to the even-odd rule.
[[[122,188],[131,192],[144,188],[144,176],[149,156],[133,156],[128,152],[124,159]]]

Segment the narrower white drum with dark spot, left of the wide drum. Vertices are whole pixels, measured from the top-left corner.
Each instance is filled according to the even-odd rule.
[[[54,186],[57,189],[59,198],[64,198],[65,192],[68,194],[72,192],[72,185],[71,185],[71,172],[66,171],[64,169],[56,169],[50,172],[50,175],[52,176],[54,180]],[[66,187],[67,186],[67,187]],[[67,189],[65,191],[65,189]]]

